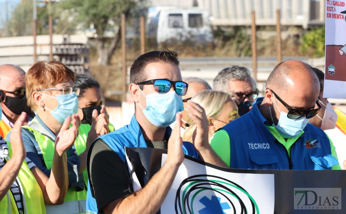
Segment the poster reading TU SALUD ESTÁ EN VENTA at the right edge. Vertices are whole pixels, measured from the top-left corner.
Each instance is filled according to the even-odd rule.
[[[325,98],[346,99],[346,0],[326,0]]]

